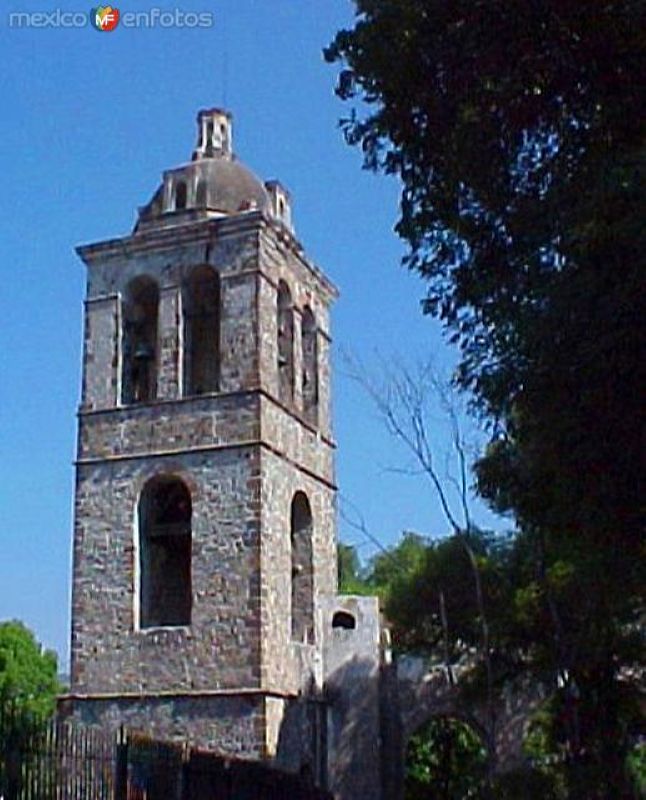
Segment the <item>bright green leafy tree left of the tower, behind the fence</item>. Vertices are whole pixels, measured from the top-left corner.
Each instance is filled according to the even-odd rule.
[[[21,622],[0,623],[0,709],[18,720],[43,720],[59,691],[55,653]]]

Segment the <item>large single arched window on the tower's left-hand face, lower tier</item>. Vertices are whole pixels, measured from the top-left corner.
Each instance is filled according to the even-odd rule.
[[[154,478],[139,500],[139,624],[191,622],[191,494],[178,478]]]

